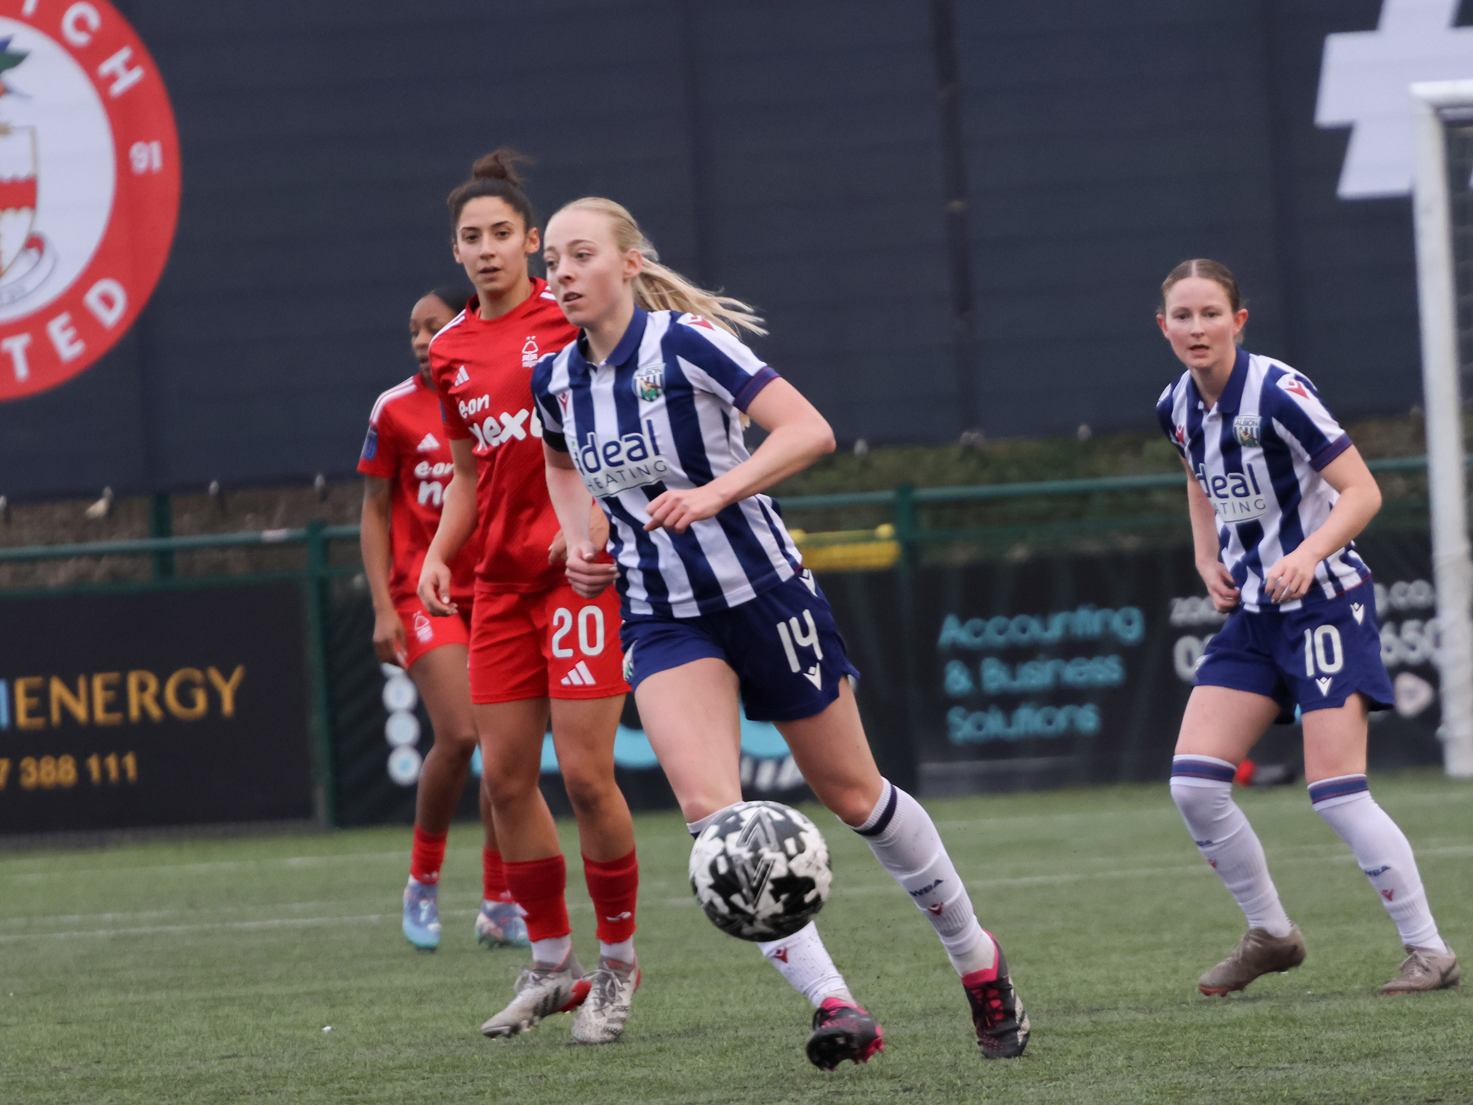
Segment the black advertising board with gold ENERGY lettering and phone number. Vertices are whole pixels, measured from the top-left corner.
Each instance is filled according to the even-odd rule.
[[[0,834],[312,816],[300,589],[0,600]]]

